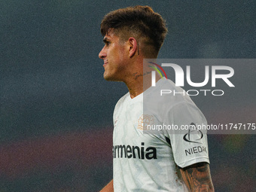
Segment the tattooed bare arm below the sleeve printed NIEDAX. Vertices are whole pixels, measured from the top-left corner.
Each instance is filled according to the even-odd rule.
[[[184,183],[190,191],[214,191],[208,163],[196,163],[194,165],[181,168],[180,171]]]

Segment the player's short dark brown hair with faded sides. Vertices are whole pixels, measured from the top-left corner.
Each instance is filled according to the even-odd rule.
[[[157,56],[167,28],[165,20],[149,6],[121,8],[106,14],[102,20],[100,31],[105,36],[110,29],[114,35],[127,41],[133,36],[140,44],[145,56]]]

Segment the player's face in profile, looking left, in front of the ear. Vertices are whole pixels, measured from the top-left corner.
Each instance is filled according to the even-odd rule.
[[[111,30],[105,35],[103,41],[105,46],[99,52],[99,58],[104,60],[103,76],[107,81],[123,81],[127,66],[127,43],[120,41],[120,38]]]

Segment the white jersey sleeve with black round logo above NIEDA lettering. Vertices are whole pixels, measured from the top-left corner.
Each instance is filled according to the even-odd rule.
[[[166,131],[175,163],[184,168],[194,163],[209,163],[206,118],[194,103],[180,102],[166,111],[163,123],[172,125]]]

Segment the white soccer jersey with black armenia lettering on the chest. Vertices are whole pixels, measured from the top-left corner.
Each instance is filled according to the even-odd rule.
[[[206,119],[189,96],[166,94],[157,101],[161,89],[176,90],[172,81],[161,79],[135,98],[126,93],[114,108],[113,179],[114,191],[187,191],[179,167],[209,163],[206,134],[183,130],[154,130],[153,126],[206,124]],[[157,96],[159,98],[159,96]],[[148,109],[143,100],[152,98]],[[144,110],[143,110],[144,107]],[[144,126],[143,126],[144,124]],[[144,133],[145,124],[154,132]],[[150,127],[150,126],[149,126]]]

